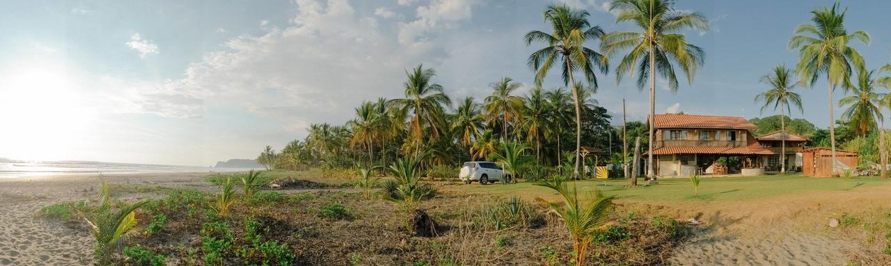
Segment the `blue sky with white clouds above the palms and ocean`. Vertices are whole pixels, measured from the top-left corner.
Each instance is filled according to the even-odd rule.
[[[687,32],[705,65],[676,93],[658,82],[658,113],[762,117],[759,78],[793,67],[793,29],[831,1],[677,1],[708,31]],[[567,4],[606,31],[602,0],[4,1],[0,3],[0,157],[213,165],[282,149],[314,123],[342,124],[362,101],[403,96],[405,69],[437,70],[453,99],[481,101],[512,77],[533,87],[522,37],[548,30],[542,12]],[[854,44],[877,69],[891,62],[885,1],[843,1]],[[588,44],[596,48],[596,41]],[[616,59],[617,60],[617,59]],[[615,64],[614,64],[615,65]],[[610,69],[612,71],[612,69]],[[544,88],[562,85],[555,72]],[[599,75],[595,98],[621,123],[645,119],[633,78]],[[827,85],[799,88],[813,124],[829,124]],[[838,90],[838,100],[844,92]],[[840,109],[836,111],[839,117]],[[891,116],[887,116],[891,117]]]

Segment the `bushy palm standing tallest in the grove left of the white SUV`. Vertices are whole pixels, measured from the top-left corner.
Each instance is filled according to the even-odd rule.
[[[411,72],[405,70],[408,80],[405,86],[405,98],[390,100],[396,109],[400,109],[406,117],[411,113],[409,133],[415,138],[415,153],[421,151],[423,125],[427,125],[430,137],[436,137],[442,130],[443,107],[451,106],[452,100],[443,92],[443,86],[430,79],[437,76],[434,69],[424,69],[418,65]]]

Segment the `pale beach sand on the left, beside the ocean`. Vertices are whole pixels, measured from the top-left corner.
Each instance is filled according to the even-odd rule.
[[[106,175],[110,184],[157,185],[210,190],[207,173]],[[35,215],[43,206],[95,197],[95,175],[0,179],[0,265],[90,265],[94,240],[87,228],[72,228]],[[115,195],[115,197],[121,197]],[[129,194],[127,197],[149,197]]]

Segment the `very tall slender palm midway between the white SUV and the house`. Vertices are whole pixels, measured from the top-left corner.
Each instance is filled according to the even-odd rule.
[[[554,66],[562,65],[563,84],[570,86],[576,104],[576,167],[578,178],[579,157],[582,149],[582,117],[578,106],[578,90],[574,73],[580,72],[588,84],[597,87],[595,68],[606,74],[609,69],[607,58],[599,52],[584,47],[587,40],[600,39],[604,35],[600,26],[592,26],[588,12],[576,10],[566,5],[549,5],[544,10],[544,20],[551,24],[551,34],[543,31],[529,31],[526,44],[542,43],[545,47],[529,55],[528,64],[535,69],[535,85],[541,86],[544,77]]]

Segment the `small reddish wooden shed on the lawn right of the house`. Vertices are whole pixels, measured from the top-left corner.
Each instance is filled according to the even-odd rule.
[[[805,176],[832,176],[832,149],[822,147],[804,149],[801,154],[801,172]],[[836,159],[838,160],[837,166],[842,169],[857,167],[857,152],[855,151],[836,149]]]

